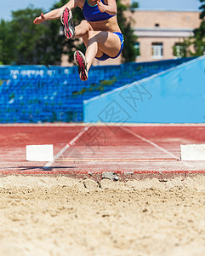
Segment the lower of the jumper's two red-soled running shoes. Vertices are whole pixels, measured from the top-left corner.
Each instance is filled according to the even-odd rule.
[[[78,73],[80,75],[80,79],[82,81],[86,81],[88,79],[87,61],[85,59],[85,56],[83,55],[83,52],[81,52],[80,50],[76,50],[74,52],[74,61],[78,66]]]

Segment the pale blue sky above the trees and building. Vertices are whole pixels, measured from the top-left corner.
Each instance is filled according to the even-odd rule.
[[[132,0],[133,1],[133,0]],[[12,10],[26,9],[29,4],[48,11],[57,0],[0,0],[0,20],[11,20]],[[199,0],[136,0],[140,9],[191,9],[197,10]]]

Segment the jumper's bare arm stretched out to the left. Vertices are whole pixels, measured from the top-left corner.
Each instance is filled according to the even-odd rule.
[[[62,11],[65,9],[65,7],[69,7],[70,9],[74,9],[77,7],[79,0],[70,0],[68,3],[65,3],[64,6],[60,7],[59,9],[53,9],[52,11],[48,12],[47,14],[43,15],[43,13],[37,17],[35,20],[33,20],[34,24],[40,24],[44,20],[56,20],[60,18],[60,15]]]

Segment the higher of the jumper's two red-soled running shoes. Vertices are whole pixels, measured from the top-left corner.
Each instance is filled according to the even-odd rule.
[[[71,39],[75,36],[75,26],[72,20],[71,9],[66,7],[60,15],[61,23],[64,26],[65,38]]]

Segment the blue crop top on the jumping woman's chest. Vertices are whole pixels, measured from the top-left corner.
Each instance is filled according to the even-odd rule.
[[[101,0],[103,4],[105,4],[104,0]],[[83,5],[83,15],[85,20],[88,21],[101,21],[101,20],[108,20],[115,15],[109,15],[108,13],[101,13],[98,4],[94,6],[88,3],[88,0],[85,0]]]

